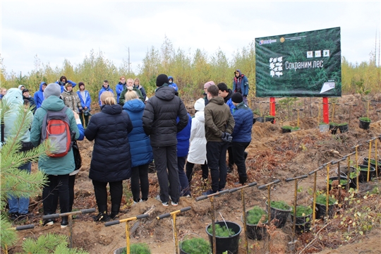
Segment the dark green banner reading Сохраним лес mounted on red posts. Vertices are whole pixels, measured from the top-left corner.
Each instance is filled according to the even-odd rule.
[[[341,97],[340,28],[255,38],[257,97]]]

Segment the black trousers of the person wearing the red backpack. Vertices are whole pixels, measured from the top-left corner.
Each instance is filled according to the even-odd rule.
[[[47,185],[42,190],[42,204],[44,205],[44,214],[55,214],[57,200],[59,198],[59,207],[61,213],[69,212],[69,175],[47,175]]]

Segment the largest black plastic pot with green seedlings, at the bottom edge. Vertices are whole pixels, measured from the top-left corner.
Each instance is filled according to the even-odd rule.
[[[219,224],[219,226],[226,226],[225,222],[216,222],[215,224]],[[229,250],[233,254],[238,254],[238,245],[239,245],[239,234],[241,234],[241,226],[234,222],[226,222],[229,229],[233,229],[234,235],[230,237],[217,237],[216,236],[216,253],[222,254],[226,250]],[[209,236],[210,245],[213,249],[213,235],[210,234],[207,229],[212,226],[212,224],[207,225],[206,232],[207,236]]]

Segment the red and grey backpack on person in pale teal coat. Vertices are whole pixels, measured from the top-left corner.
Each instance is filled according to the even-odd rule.
[[[41,143],[49,139],[52,145],[49,157],[64,157],[71,150],[71,131],[66,110],[49,111],[42,121]]]

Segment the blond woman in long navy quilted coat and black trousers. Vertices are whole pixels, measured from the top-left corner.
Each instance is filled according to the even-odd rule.
[[[87,140],[95,140],[89,178],[92,179],[99,213],[95,221],[107,222],[119,214],[123,180],[131,176],[128,133],[133,130],[130,116],[123,111],[112,92],[102,92],[101,111],[90,119]],[[111,194],[111,214],[107,213],[107,183]]]

